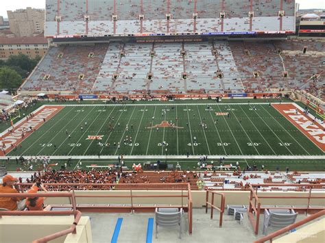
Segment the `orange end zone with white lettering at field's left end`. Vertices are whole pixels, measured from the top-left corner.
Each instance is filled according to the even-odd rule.
[[[64,106],[45,105],[29,118],[23,118],[23,121],[14,128],[10,127],[3,136],[0,137],[0,155],[5,155],[27,138],[33,131],[38,129],[45,122],[62,110]]]

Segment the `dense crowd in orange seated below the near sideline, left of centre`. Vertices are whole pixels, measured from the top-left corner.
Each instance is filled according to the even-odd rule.
[[[21,178],[19,178],[21,182]],[[96,183],[99,186],[73,186],[75,190],[110,190],[119,184],[130,183],[191,183],[195,186],[197,173],[193,171],[122,171],[121,169],[109,170],[47,170],[34,173],[26,179],[27,183],[40,181],[42,183]],[[100,184],[112,183],[116,186],[100,186]],[[47,190],[71,190],[71,186],[47,186]],[[123,189],[123,188],[122,188]]]

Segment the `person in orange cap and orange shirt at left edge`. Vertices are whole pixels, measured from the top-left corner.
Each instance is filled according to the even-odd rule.
[[[14,185],[18,179],[12,175],[5,175],[0,186],[0,193],[19,193],[19,189]],[[18,197],[0,197],[0,207],[10,211],[17,210],[17,202],[21,201]]]

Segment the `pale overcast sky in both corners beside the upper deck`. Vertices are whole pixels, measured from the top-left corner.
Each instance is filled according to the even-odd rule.
[[[296,2],[300,3],[300,9],[325,9],[325,0],[296,0]],[[26,7],[45,8],[45,0],[0,0],[0,16],[7,18],[7,10],[16,10]]]

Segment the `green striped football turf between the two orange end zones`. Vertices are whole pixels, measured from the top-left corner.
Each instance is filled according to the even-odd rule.
[[[247,159],[324,157],[268,103],[66,105],[8,155],[177,158],[187,153]]]

